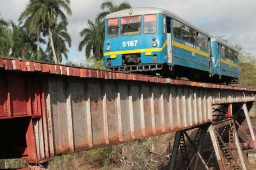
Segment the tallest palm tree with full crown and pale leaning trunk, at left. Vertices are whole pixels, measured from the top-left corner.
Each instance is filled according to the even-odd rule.
[[[20,20],[27,20],[27,24],[31,24],[34,30],[40,31],[42,26],[48,31],[47,34],[49,35],[55,63],[58,63],[58,59],[54,47],[52,30],[56,27],[58,19],[67,21],[63,10],[68,15],[72,14],[69,6],[70,0],[30,0],[25,11],[20,16]]]

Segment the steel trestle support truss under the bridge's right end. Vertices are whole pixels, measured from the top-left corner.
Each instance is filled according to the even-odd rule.
[[[216,117],[213,122],[177,131],[170,170],[197,170],[199,167],[204,170],[246,170],[242,150],[255,149],[255,134],[246,103],[235,105],[235,114],[232,104],[222,105],[213,109]],[[243,116],[249,134],[240,124]],[[196,130],[193,139],[193,135],[188,135],[191,130]]]

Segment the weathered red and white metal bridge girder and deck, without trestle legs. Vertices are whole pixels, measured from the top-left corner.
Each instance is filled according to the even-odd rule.
[[[18,117],[33,122],[25,133],[31,146],[22,146],[31,152],[23,158],[39,162],[204,124],[212,121],[212,105],[255,101],[256,93],[6,58],[0,58],[0,80],[0,124]]]

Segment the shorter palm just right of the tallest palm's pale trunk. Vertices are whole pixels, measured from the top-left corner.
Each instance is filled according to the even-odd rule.
[[[68,23],[66,21],[61,21],[52,30],[53,45],[60,63],[62,62],[62,55],[64,55],[66,60],[68,60],[68,49],[66,44],[69,48],[71,47],[71,37],[67,32],[67,25]],[[47,51],[53,55],[50,42],[48,42]]]

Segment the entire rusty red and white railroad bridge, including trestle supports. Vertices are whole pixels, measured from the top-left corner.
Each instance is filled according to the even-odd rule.
[[[176,132],[170,170],[181,169],[178,152],[184,169],[200,163],[211,169],[214,157],[221,170],[245,170],[242,149],[256,148],[248,114],[255,95],[253,88],[0,58],[0,158],[38,165],[56,155]],[[187,131],[194,128],[191,139]],[[214,150],[203,158],[207,134]]]

